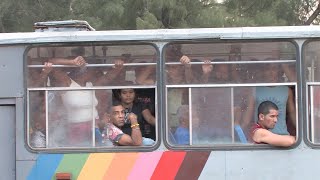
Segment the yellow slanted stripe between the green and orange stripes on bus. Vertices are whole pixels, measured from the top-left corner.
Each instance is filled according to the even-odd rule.
[[[112,162],[114,153],[92,153],[82,168],[77,180],[99,180]]]

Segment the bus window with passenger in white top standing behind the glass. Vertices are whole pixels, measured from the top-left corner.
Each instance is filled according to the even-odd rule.
[[[26,59],[31,148],[130,145],[110,140],[110,112],[115,103],[113,90],[124,86],[137,91],[135,100],[143,103],[154,117],[151,124],[147,122],[149,119],[139,123],[145,138],[156,141],[155,73],[159,58],[152,45],[39,46],[30,48]],[[43,108],[36,108],[39,104]],[[41,146],[33,143],[35,132],[40,128],[38,122],[41,122],[39,132],[44,140]],[[122,127],[115,128],[126,134]],[[131,133],[124,135],[130,136]]]

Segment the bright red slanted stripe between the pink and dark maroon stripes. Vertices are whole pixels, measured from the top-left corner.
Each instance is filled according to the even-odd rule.
[[[185,155],[186,152],[164,152],[152,174],[151,180],[174,179]]]

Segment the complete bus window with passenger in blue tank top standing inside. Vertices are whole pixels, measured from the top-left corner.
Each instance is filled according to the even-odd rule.
[[[176,43],[163,52],[169,146],[253,144],[251,129],[264,101],[274,102],[279,113],[267,129],[296,136],[292,43]]]

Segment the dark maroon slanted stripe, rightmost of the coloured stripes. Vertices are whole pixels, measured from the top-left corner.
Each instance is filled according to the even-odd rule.
[[[175,180],[198,179],[210,155],[210,151],[187,152]]]

